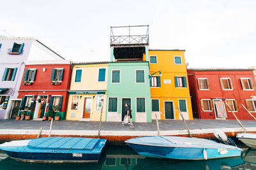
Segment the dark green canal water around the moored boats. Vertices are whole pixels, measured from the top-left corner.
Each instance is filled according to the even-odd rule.
[[[40,164],[18,162],[10,159],[3,152],[0,152],[0,169],[19,169],[19,170],[79,170],[79,169],[256,169],[256,150],[243,148],[242,157],[212,160],[173,160],[173,159],[154,159],[145,158],[134,152],[129,146],[107,146],[99,163],[92,164]]]

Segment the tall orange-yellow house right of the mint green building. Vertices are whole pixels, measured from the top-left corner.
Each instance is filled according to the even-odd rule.
[[[152,119],[192,120],[185,50],[148,50]]]

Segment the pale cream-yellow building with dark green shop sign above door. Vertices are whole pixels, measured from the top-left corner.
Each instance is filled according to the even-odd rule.
[[[102,121],[106,117],[108,62],[75,63],[68,91],[67,120]]]

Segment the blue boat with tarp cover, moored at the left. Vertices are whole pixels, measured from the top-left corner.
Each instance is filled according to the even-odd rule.
[[[98,162],[106,139],[48,137],[0,145],[9,157],[24,162]]]

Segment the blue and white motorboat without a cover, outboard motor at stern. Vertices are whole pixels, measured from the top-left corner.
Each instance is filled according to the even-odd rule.
[[[209,139],[177,136],[145,136],[128,139],[125,143],[145,157],[168,159],[207,160],[241,157],[243,151],[236,146],[216,143]]]

